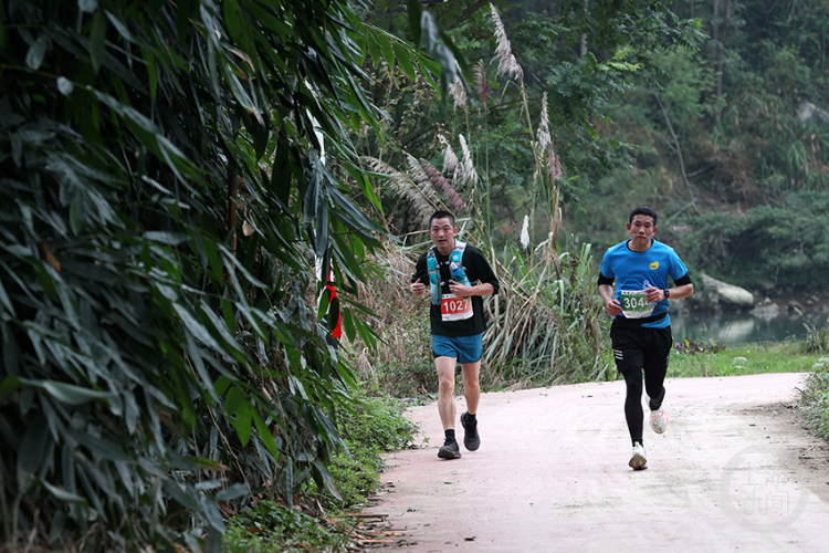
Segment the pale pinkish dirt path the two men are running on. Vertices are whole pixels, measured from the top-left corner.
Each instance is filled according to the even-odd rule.
[[[430,442],[388,459],[367,512],[410,552],[826,552],[829,453],[791,408],[802,377],[669,379],[638,472],[622,382],[486,394],[481,449],[452,461],[437,406],[414,407]]]

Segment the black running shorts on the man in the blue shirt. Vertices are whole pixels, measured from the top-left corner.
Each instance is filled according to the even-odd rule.
[[[671,326],[664,328],[630,328],[617,324],[610,326],[610,341],[613,344],[616,368],[644,368],[646,373],[667,372],[673,336]]]

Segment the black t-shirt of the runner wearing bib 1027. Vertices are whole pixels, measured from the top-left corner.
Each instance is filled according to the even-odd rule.
[[[440,268],[441,294],[449,294],[451,293],[449,290],[449,255],[441,255],[437,250],[434,253],[434,259],[438,261],[438,267]],[[411,281],[416,282],[420,279],[420,282],[426,284],[426,296],[431,298],[429,292],[429,268],[426,261],[427,254],[428,252],[423,253],[418,259]],[[486,261],[486,258],[481,253],[481,250],[474,246],[466,244],[466,248],[463,250],[463,257],[461,258],[461,264],[463,265],[466,278],[472,285],[489,282],[494,290],[493,294],[499,293],[501,284],[499,283],[495,273],[492,271],[490,263]],[[483,310],[483,298],[480,295],[472,296],[472,317],[464,321],[442,321],[440,305],[434,305],[431,301],[429,304],[431,305],[431,309],[429,310],[429,319],[431,321],[432,334],[450,337],[474,336],[486,330],[486,315]]]

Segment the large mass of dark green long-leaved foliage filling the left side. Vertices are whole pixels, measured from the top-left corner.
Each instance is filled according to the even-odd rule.
[[[217,551],[218,501],[330,484],[354,380],[314,258],[347,294],[377,244],[347,139],[379,115],[371,33],[345,0],[11,0],[2,23],[2,538]]]

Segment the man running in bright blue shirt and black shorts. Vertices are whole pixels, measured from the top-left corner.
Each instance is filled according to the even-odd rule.
[[[627,228],[630,239],[605,253],[598,284],[599,295],[613,317],[610,327],[613,357],[627,386],[625,418],[633,444],[628,465],[633,470],[642,470],[648,468],[642,445],[642,371],[651,428],[662,434],[668,425],[662,408],[663,384],[673,345],[668,299],[688,298],[694,293],[694,285],[688,268],[673,248],[653,239],[657,233],[657,212],[653,209],[646,206],[634,208]],[[669,276],[676,284],[671,290],[668,290]]]

